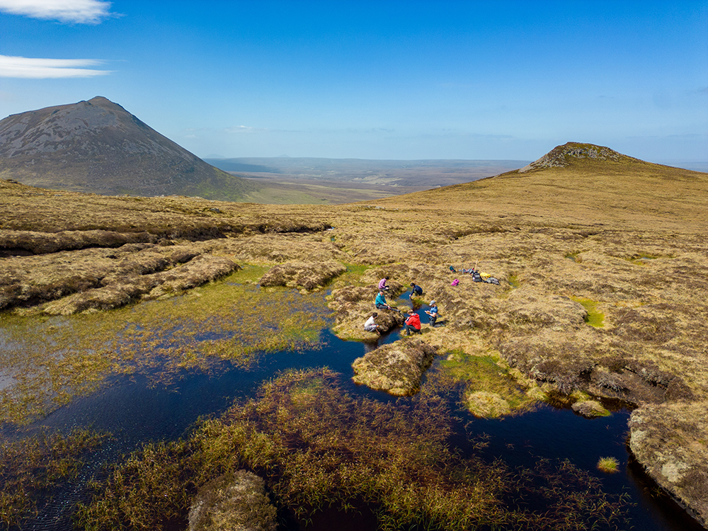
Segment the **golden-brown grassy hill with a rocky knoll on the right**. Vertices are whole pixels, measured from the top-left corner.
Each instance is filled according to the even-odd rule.
[[[606,159],[569,155],[583,145],[588,144],[556,147],[525,169],[379,203],[415,205],[423,210],[445,205],[452,212],[498,219],[500,224],[652,226],[682,232],[704,227],[708,219],[706,173],[651,164],[616,152]]]

